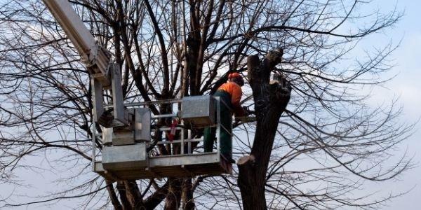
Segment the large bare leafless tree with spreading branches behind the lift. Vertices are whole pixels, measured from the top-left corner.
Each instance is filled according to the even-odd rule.
[[[93,105],[79,55],[41,1],[5,1],[1,180],[18,183],[15,168],[36,171],[25,159],[53,151],[63,155],[52,165],[80,169],[62,175],[73,187],[39,202],[77,195],[88,197],[82,205],[115,209],[370,209],[394,195],[353,195],[362,181],[386,181],[411,167],[405,155],[387,160],[412,125],[399,124],[393,106],[366,106],[369,93],[358,91],[386,81],[379,75],[392,69],[394,46],[349,60],[361,39],[401,13],[366,15],[359,10],[368,2],[357,0],[71,2],[114,53],[125,102],[209,94],[238,71],[249,84],[243,104],[257,121],[236,124],[235,152],[243,157],[233,176],[104,181],[89,167]],[[107,202],[97,204],[104,190]]]

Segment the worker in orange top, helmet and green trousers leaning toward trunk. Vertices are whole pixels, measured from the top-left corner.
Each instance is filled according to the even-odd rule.
[[[232,159],[232,112],[236,117],[246,116],[246,111],[240,105],[243,85],[244,80],[239,73],[230,73],[228,82],[221,85],[213,94],[215,97],[220,97],[220,152],[232,163],[235,163]],[[212,152],[215,135],[215,127],[204,130],[203,147],[206,153]]]

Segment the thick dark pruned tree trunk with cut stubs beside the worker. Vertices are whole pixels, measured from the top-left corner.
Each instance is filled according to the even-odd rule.
[[[267,167],[281,113],[290,99],[290,84],[276,74],[269,82],[272,69],[281,62],[283,50],[267,54],[261,62],[257,55],[247,59],[248,80],[253,90],[257,127],[251,153],[238,162],[238,184],[243,209],[267,209],[265,183]]]

